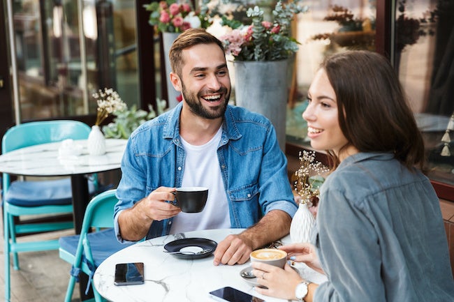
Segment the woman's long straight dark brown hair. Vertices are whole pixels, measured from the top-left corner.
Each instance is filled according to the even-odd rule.
[[[336,93],[339,126],[360,152],[392,152],[423,169],[423,137],[395,70],[381,54],[365,50],[328,57],[321,68]],[[345,148],[346,146],[344,146]],[[335,167],[339,159],[330,152]]]

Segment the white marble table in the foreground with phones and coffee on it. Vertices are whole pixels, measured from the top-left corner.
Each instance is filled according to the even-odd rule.
[[[258,296],[265,301],[284,301],[263,296],[255,292],[254,286],[245,282],[240,271],[250,262],[242,265],[213,265],[213,255],[203,259],[179,259],[168,255],[164,250],[166,243],[181,238],[205,238],[219,243],[228,234],[237,234],[242,229],[212,229],[186,232],[184,234],[162,236],[124,248],[105,259],[94,273],[96,290],[109,301],[193,301],[213,302],[209,292],[225,286],[240,289]],[[290,239],[285,237],[283,243]],[[114,282],[115,264],[144,262],[145,283],[142,285],[116,286]],[[321,283],[324,275],[300,264],[304,278]],[[304,267],[303,267],[304,266]]]

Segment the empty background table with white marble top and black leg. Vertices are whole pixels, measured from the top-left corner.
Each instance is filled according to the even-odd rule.
[[[89,202],[86,174],[119,169],[127,139],[106,139],[107,153],[90,156],[87,139],[75,140],[82,146],[78,156],[59,156],[61,142],[38,144],[0,156],[0,172],[18,176],[71,176],[75,232],[80,233]]]

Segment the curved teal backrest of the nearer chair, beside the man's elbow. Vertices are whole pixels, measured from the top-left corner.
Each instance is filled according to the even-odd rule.
[[[114,207],[118,199],[115,196],[117,190],[107,190],[91,199],[85,210],[82,222],[81,234],[86,234],[89,227],[113,227]]]

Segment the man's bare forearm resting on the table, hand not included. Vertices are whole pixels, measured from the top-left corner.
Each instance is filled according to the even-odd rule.
[[[244,230],[240,236],[247,239],[252,244],[252,249],[255,250],[288,235],[291,221],[288,213],[273,210],[263,216],[256,225]]]

